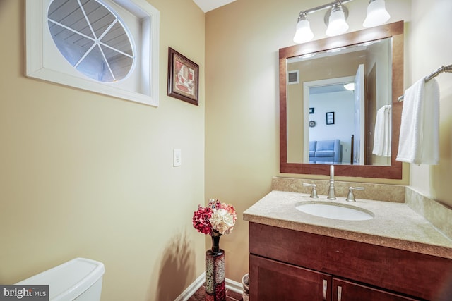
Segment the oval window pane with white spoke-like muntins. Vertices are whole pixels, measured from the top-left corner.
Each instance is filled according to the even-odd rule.
[[[118,82],[131,73],[133,40],[100,1],[54,0],[47,18],[57,48],[79,72],[100,82]]]

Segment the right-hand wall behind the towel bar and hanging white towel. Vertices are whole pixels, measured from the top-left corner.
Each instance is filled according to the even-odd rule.
[[[412,1],[410,24],[411,77],[405,86],[428,75],[439,66],[452,63],[452,2],[450,0]],[[436,77],[440,89],[439,165],[411,166],[411,185],[424,195],[452,207],[452,74]]]

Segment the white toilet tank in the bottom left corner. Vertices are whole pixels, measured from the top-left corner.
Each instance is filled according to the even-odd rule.
[[[49,285],[49,301],[100,301],[104,264],[76,258],[27,278],[18,285]]]

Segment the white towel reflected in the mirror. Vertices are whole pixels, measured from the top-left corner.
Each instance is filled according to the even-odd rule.
[[[374,149],[376,156],[391,156],[391,105],[382,106],[376,111],[374,130]]]

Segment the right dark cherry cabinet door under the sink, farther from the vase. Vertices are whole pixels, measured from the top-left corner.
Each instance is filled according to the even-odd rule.
[[[333,278],[333,301],[415,301],[384,290]]]

